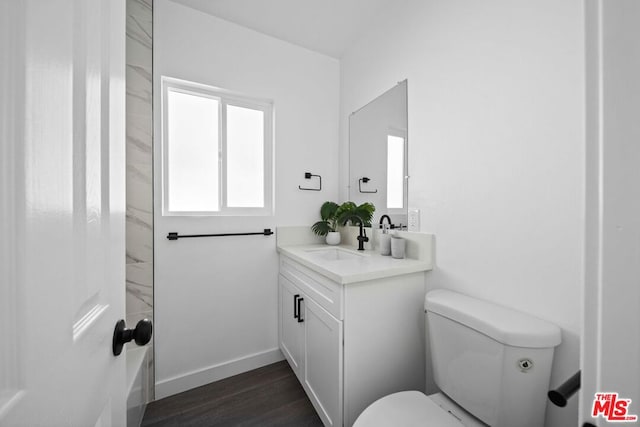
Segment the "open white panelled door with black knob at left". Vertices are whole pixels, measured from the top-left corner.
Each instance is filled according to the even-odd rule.
[[[0,425],[123,426],[122,0],[0,0]]]

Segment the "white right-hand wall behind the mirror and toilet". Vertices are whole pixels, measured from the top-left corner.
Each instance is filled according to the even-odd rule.
[[[579,369],[584,228],[581,1],[405,0],[341,62],[349,113],[408,79],[409,206],[436,236],[430,288],[563,329],[551,384]],[[577,423],[577,398],[548,426]]]

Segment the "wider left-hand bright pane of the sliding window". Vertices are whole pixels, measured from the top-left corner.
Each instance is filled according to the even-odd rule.
[[[219,101],[172,90],[167,96],[169,211],[217,211]]]

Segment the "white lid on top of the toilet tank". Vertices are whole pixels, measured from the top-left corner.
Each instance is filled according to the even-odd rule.
[[[560,328],[553,323],[445,289],[427,293],[425,310],[513,347],[550,348],[562,341]]]

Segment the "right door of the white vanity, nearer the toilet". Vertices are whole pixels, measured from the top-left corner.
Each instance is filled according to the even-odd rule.
[[[302,302],[306,330],[303,384],[325,426],[342,426],[342,322],[310,298]]]

